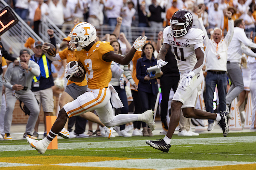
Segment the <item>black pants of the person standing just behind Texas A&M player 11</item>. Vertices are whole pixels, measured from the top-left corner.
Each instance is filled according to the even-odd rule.
[[[160,79],[161,83],[161,90],[162,90],[162,101],[161,101],[161,121],[164,122],[166,120],[166,116],[168,113],[168,102],[169,102],[169,95],[170,95],[170,90],[174,91],[174,93],[177,90],[178,83],[179,83],[180,77],[162,77]]]

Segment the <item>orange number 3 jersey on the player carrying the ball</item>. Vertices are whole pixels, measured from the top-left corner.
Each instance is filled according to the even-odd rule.
[[[112,77],[110,70],[111,62],[104,61],[102,55],[110,51],[114,51],[110,42],[98,41],[93,44],[89,51],[82,49],[75,52],[77,61],[84,65],[88,79],[88,88],[99,89],[108,87]]]

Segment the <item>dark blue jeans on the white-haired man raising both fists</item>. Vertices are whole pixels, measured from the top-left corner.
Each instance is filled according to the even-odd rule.
[[[213,94],[215,86],[218,88],[218,112],[226,111],[226,94],[227,94],[227,74],[216,74],[207,71],[206,76],[206,111],[213,113]],[[213,123],[213,120],[208,120],[208,123]]]

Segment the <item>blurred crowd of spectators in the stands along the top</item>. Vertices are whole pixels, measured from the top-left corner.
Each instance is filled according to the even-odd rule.
[[[228,29],[224,11],[232,18],[244,19],[245,31],[255,31],[256,11],[254,0],[5,0],[15,12],[38,31],[46,15],[62,31],[78,17],[93,26],[116,26],[122,17],[122,31],[131,26],[163,28],[169,26],[172,14],[179,9],[189,10],[194,17],[194,28],[199,28],[197,9],[202,9],[204,26]],[[38,32],[37,32],[38,33]]]

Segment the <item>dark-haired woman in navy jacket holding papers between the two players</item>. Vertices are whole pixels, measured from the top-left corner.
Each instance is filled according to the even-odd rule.
[[[154,57],[154,46],[151,43],[146,43],[142,49],[141,58],[137,60],[137,79],[139,80],[138,93],[142,103],[142,113],[148,109],[154,110],[154,105],[157,99],[158,87],[157,79],[152,77],[156,74],[154,71],[148,72],[147,69],[157,65],[157,59]],[[163,74],[161,72],[161,74]],[[150,128],[142,122],[143,136],[153,136]]]

